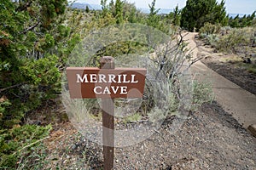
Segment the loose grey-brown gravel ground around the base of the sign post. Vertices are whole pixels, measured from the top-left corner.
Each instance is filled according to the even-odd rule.
[[[256,169],[256,139],[216,102],[189,114],[176,133],[171,124],[166,119],[150,138],[116,148],[114,169]],[[49,159],[57,153],[63,169],[102,169],[102,146],[70,131],[48,143]]]

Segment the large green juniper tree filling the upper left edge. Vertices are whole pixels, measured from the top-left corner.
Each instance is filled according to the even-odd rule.
[[[0,105],[0,128],[20,123],[55,91],[61,73],[54,47],[66,35],[57,17],[66,6],[66,0],[0,0],[0,98],[12,104]]]

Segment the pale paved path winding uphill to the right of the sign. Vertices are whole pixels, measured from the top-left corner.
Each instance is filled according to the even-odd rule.
[[[189,48],[194,57],[197,57],[198,48],[195,43],[196,33],[189,32],[184,38],[189,42]],[[208,55],[211,55],[210,53]],[[215,99],[229,112],[241,125],[247,128],[251,124],[256,124],[256,96],[242,89],[234,82],[220,76],[212,71],[201,61],[192,65],[191,71],[199,81],[212,82],[212,90]]]

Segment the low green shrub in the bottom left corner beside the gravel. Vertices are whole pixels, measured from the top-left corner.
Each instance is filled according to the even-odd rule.
[[[36,159],[39,152],[33,151],[37,150],[40,144],[42,147],[42,139],[49,135],[50,129],[50,126],[24,125],[0,130],[0,168],[14,169],[19,164],[23,167],[37,167],[35,162],[39,164],[42,160]]]

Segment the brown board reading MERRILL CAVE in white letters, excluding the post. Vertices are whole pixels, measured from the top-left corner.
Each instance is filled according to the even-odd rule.
[[[70,97],[142,98],[146,69],[67,67]]]

